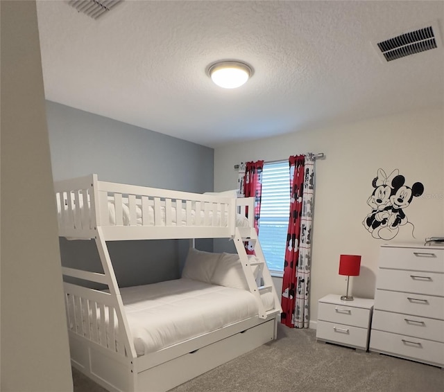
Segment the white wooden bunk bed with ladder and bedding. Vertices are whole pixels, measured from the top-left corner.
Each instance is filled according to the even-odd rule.
[[[92,380],[109,391],[167,391],[276,338],[282,310],[254,229],[253,197],[115,184],[96,175],[56,181],[55,190],[60,237],[95,240],[103,267],[62,267],[65,280],[86,283],[64,287],[71,364]],[[238,254],[191,248],[182,278],[119,287],[107,241],[178,238],[232,238]],[[245,241],[255,257],[247,256]],[[236,271],[240,280],[225,287]],[[97,283],[108,289],[90,288]]]

